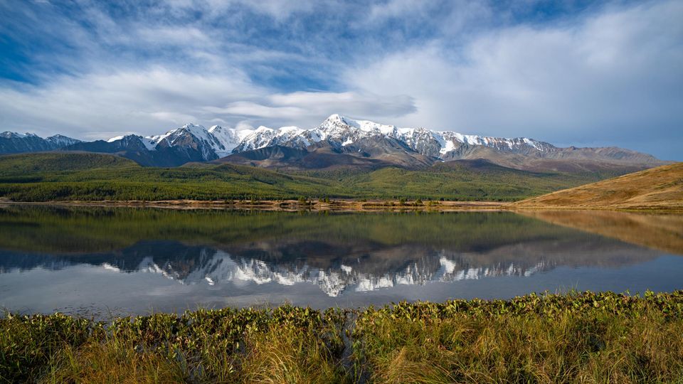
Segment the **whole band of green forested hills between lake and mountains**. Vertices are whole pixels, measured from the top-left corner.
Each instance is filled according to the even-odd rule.
[[[108,154],[0,156],[0,197],[14,201],[237,200],[330,197],[517,201],[614,176],[539,173],[488,161],[409,171],[341,169],[286,174],[232,164],[142,167]]]

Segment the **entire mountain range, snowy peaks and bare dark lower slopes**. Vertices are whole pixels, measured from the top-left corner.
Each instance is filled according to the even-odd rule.
[[[118,154],[143,166],[218,162],[270,169],[421,169],[435,163],[486,159],[526,171],[635,171],[665,164],[649,154],[617,147],[561,148],[535,139],[506,139],[425,128],[398,128],[332,114],[318,127],[206,129],[186,124],[165,134],[128,134],[82,142],[61,135],[0,134],[0,154],[33,151],[90,151]]]

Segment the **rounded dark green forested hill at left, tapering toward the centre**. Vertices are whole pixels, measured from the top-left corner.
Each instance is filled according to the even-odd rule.
[[[142,167],[106,154],[0,156],[0,196],[14,201],[223,200],[342,194],[333,183],[247,166]]]

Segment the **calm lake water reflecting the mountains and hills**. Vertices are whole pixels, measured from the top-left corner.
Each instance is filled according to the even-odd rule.
[[[107,316],[683,289],[683,217],[0,207],[0,307]]]

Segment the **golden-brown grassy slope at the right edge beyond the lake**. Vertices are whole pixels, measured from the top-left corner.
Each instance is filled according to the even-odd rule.
[[[548,193],[513,206],[683,210],[683,162]]]

